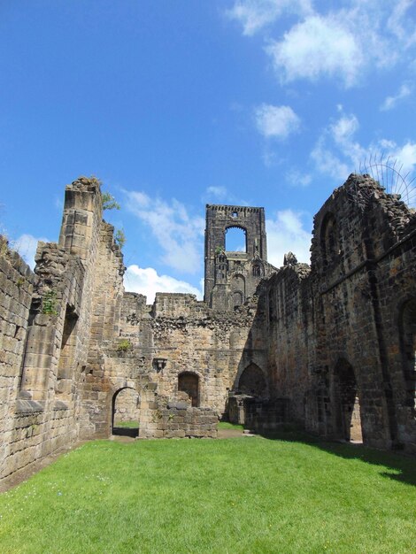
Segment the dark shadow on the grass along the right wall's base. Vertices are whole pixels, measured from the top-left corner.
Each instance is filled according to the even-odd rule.
[[[320,437],[308,435],[303,431],[281,430],[258,435],[271,441],[303,442],[320,450],[325,450],[334,456],[345,459],[359,459],[366,464],[384,466],[391,470],[381,472],[383,477],[416,486],[416,458],[397,452],[375,450],[363,444],[350,442],[322,441]]]

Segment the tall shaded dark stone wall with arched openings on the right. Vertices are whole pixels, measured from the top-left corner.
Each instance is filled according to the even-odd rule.
[[[351,175],[314,219],[311,267],[267,282],[269,372],[291,418],[337,439],[416,451],[416,215]]]

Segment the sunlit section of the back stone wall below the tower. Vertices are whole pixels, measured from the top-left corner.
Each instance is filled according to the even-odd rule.
[[[103,435],[111,433],[112,398],[127,386],[141,397],[140,437],[156,432],[160,435],[166,419],[159,421],[158,414],[174,402],[185,402],[190,410],[189,417],[178,420],[186,424],[181,434],[183,431],[188,436],[194,429],[192,433],[201,436],[197,421],[203,426],[203,436],[216,433],[215,428],[206,427],[204,410],[210,408],[215,413],[217,419],[210,419],[214,423],[209,424],[215,427],[217,414],[227,410],[227,397],[235,388],[237,376],[253,362],[265,367],[264,337],[253,327],[256,313],[256,300],[234,312],[217,313],[193,295],[158,293],[155,303],[148,306],[144,296],[126,293],[119,336],[102,342],[100,369],[88,376],[87,389],[96,393],[91,402],[95,413],[90,417],[90,421],[97,422],[95,433],[98,429]],[[196,383],[193,398],[186,387],[181,389],[183,376]],[[181,411],[184,409],[182,405]],[[173,424],[172,418],[167,421]],[[169,425],[165,430],[169,435],[180,429]]]

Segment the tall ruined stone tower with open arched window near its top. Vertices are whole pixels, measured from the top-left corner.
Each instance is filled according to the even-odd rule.
[[[245,235],[245,251],[227,251],[227,230]],[[232,310],[252,296],[258,282],[274,271],[267,264],[265,211],[250,206],[207,204],[204,301],[216,310]]]

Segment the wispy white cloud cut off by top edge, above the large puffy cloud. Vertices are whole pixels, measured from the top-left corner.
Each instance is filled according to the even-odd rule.
[[[226,13],[242,24],[243,35],[251,36],[288,12],[300,16],[309,14],[312,3],[310,0],[238,0]]]

